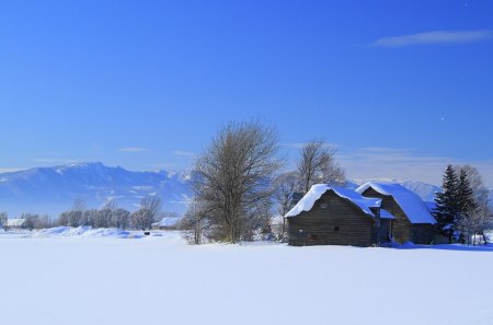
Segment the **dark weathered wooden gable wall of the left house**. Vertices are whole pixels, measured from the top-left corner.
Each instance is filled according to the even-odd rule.
[[[377,237],[371,217],[332,190],[322,195],[310,211],[287,220],[289,245],[293,246],[370,246]]]

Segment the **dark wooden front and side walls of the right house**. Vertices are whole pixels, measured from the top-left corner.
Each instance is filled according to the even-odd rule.
[[[376,197],[381,199],[381,208],[392,213],[395,219],[392,220],[393,240],[400,244],[413,242],[415,244],[431,244],[434,239],[434,227],[427,223],[412,224],[404,211],[392,196],[382,195],[371,187],[365,190],[363,196]]]

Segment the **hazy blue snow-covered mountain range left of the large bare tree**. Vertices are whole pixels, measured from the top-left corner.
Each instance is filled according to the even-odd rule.
[[[163,210],[183,213],[190,199],[190,173],[130,172],[102,163],[78,163],[0,174],[0,211],[57,217],[76,199],[89,208],[108,200],[136,210],[146,195],[159,195]]]

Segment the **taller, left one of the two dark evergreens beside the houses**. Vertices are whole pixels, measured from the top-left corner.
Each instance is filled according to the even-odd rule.
[[[457,178],[456,171],[451,165],[448,165],[443,178],[442,193],[436,194],[434,216],[437,221],[436,227],[438,233],[447,236],[449,242],[451,242],[451,237],[454,236],[454,223],[459,214],[457,201],[458,185],[459,179]]]

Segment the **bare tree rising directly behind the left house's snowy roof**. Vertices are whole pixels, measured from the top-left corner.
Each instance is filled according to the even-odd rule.
[[[345,181],[344,170],[335,162],[336,149],[323,140],[310,141],[300,149],[298,174],[301,189],[308,193],[317,183],[342,183]]]

